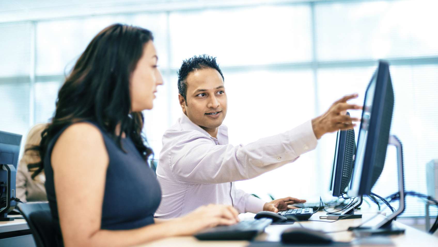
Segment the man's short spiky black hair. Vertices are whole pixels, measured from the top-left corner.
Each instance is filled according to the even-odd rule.
[[[209,55],[193,56],[183,61],[180,70],[178,71],[178,92],[184,97],[187,104],[187,76],[198,69],[215,69],[222,76],[222,71],[219,69],[219,65],[216,63],[215,57]]]

